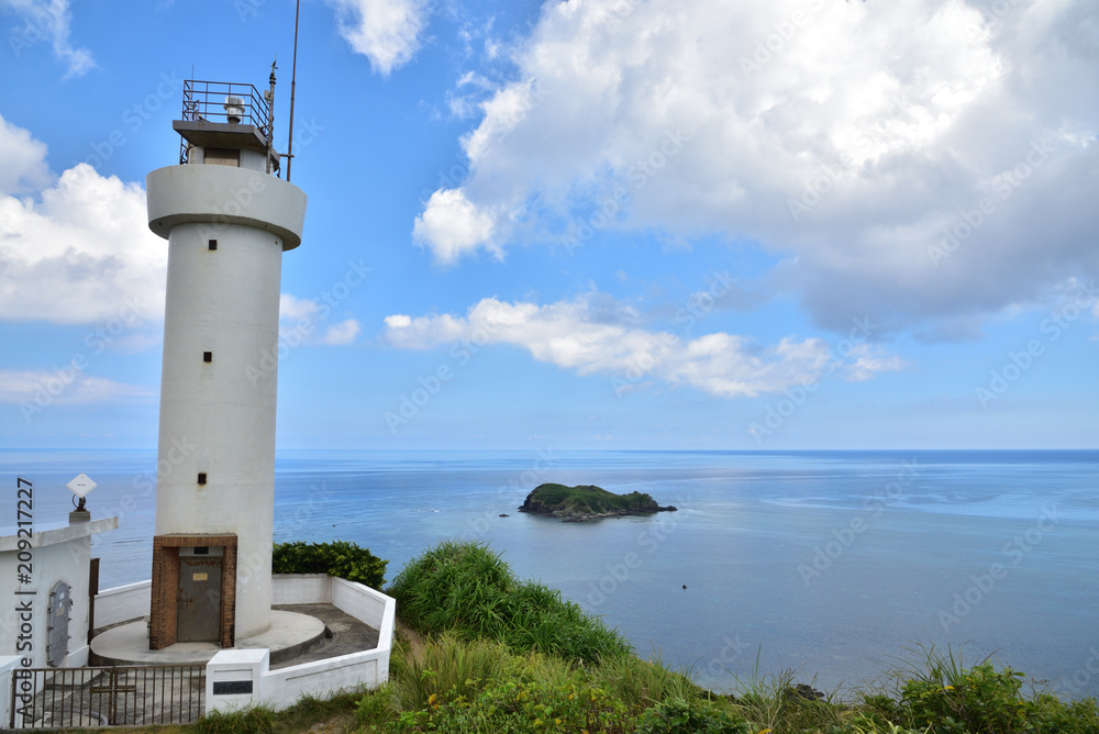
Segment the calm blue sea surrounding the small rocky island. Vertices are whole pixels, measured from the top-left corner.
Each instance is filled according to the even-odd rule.
[[[46,523],[85,471],[100,485],[93,516],[120,518],[96,538],[102,586],[146,579],[154,466],[153,452],[0,452],[0,525],[14,520],[16,475]],[[518,513],[544,481],[680,511],[587,524]],[[275,538],[354,541],[389,559],[388,579],[441,538],[488,541],[518,575],[713,688],[757,665],[853,688],[934,643],[1080,697],[1099,694],[1097,488],[1095,451],[288,451]]]

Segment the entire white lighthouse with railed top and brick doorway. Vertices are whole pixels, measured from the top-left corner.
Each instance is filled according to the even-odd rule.
[[[168,241],[149,649],[271,624],[282,253],[306,194],[278,177],[270,89],[187,81],[179,165],[145,179]],[[265,358],[266,356],[266,358]]]

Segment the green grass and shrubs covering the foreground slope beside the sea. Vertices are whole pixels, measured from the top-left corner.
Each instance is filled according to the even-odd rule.
[[[170,731],[221,734],[1099,734],[1095,698],[1023,691],[1023,676],[953,649],[908,650],[878,685],[841,698],[792,671],[732,693],[637,657],[615,630],[514,577],[480,543],[444,542],[389,592],[402,627],[389,681],[275,713],[257,708]],[[576,641],[585,641],[582,644]],[[810,680],[810,683],[812,681]],[[149,730],[154,731],[154,730]],[[164,730],[156,730],[164,731]]]

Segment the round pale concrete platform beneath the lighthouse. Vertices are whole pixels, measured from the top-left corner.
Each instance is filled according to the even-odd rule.
[[[314,616],[271,610],[271,629],[237,640],[234,649],[266,647],[270,649],[270,663],[275,665],[320,644],[324,635],[324,623]],[[151,650],[145,620],[112,627],[91,641],[91,652],[104,665],[201,665],[209,663],[220,649],[215,643],[176,643],[164,649]]]

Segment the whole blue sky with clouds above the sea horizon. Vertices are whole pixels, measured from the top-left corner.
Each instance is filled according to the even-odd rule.
[[[1099,440],[1094,0],[303,0],[279,448]],[[0,447],[156,446],[186,79],[289,0],[0,0]]]

